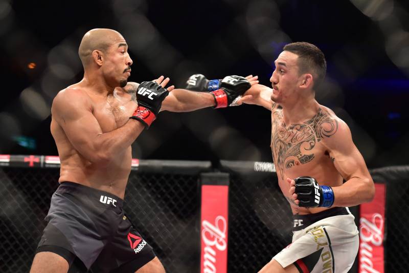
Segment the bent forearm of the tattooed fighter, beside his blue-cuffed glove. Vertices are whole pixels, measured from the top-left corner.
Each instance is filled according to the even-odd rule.
[[[372,201],[375,187],[370,177],[352,177],[343,185],[332,187],[334,192],[333,206],[356,206]]]

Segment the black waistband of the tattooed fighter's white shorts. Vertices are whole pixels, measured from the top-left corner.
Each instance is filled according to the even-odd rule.
[[[298,232],[299,230],[304,229],[307,226],[312,225],[313,223],[318,222],[322,219],[338,215],[349,215],[348,209],[346,207],[332,207],[319,213],[293,215],[292,219],[294,224],[292,226],[292,231]]]

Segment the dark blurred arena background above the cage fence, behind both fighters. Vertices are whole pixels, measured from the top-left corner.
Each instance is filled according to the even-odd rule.
[[[0,0],[0,154],[57,155],[52,99],[82,78],[83,34],[112,28],[129,45],[130,81],[165,75],[176,87],[194,73],[259,75],[269,86],[285,44],[313,43],[328,62],[317,101],[349,124],[369,167],[407,164],[408,10],[391,0]],[[256,106],[164,112],[133,157],[271,161],[270,122]]]

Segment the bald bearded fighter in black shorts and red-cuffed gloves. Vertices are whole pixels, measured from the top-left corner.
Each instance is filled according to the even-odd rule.
[[[213,93],[166,89],[163,76],[127,82],[128,45],[110,29],[88,31],[78,52],[84,77],[60,91],[51,108],[60,185],[31,272],[67,272],[78,264],[93,272],[165,272],[122,208],[131,143],[162,110],[226,107],[256,81],[232,76]]]

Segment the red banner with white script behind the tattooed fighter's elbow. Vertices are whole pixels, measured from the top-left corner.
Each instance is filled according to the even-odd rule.
[[[359,273],[383,273],[385,232],[385,184],[375,183],[375,198],[360,205]]]

